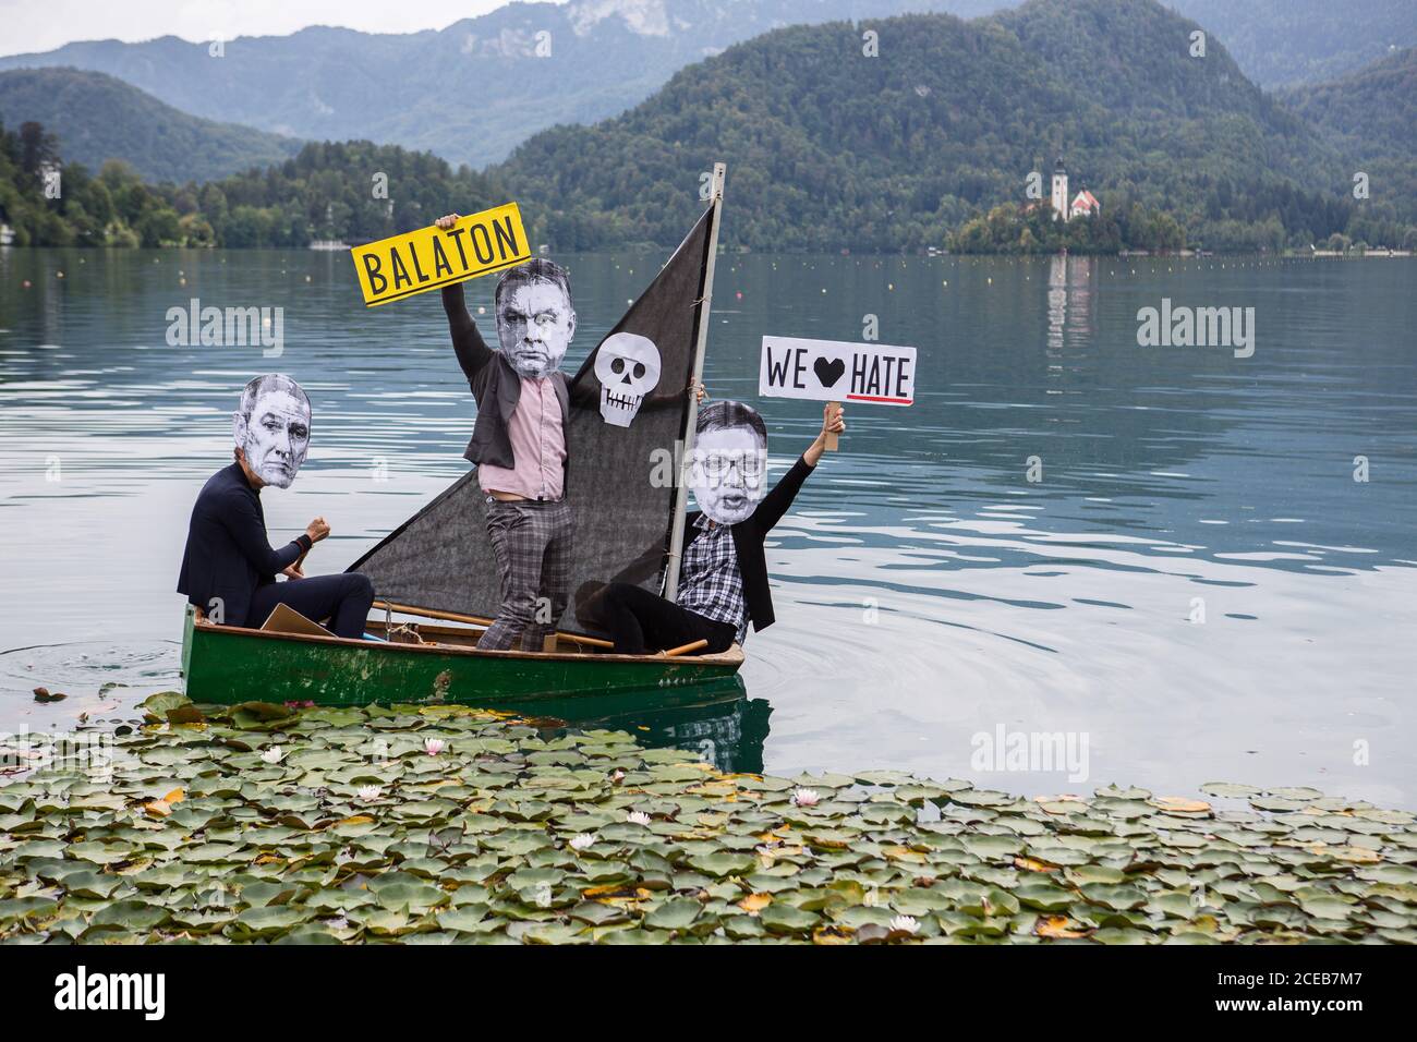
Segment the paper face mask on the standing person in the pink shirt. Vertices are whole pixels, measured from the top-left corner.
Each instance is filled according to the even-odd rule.
[[[575,309],[565,269],[551,261],[517,265],[497,285],[497,340],[507,362],[526,379],[561,367],[575,335]]]

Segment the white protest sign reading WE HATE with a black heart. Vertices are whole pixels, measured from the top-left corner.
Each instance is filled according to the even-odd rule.
[[[765,336],[758,394],[910,405],[915,401],[915,349]]]

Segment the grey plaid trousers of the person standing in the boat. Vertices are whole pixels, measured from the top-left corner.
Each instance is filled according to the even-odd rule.
[[[502,607],[479,648],[507,651],[520,637],[524,651],[541,651],[565,612],[574,534],[571,505],[564,499],[507,503],[487,496],[487,536],[502,573]]]

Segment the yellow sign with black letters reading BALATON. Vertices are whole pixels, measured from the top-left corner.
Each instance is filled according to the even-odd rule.
[[[364,303],[373,308],[429,289],[478,278],[531,259],[516,203],[461,218],[448,231],[434,225],[364,247],[353,247]]]

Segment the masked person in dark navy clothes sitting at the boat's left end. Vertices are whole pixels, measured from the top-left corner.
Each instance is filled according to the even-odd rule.
[[[374,586],[341,573],[306,578],[300,560],[330,534],[323,517],[279,550],[266,537],[261,489],[289,488],[310,441],[310,400],[281,373],[256,377],[234,415],[235,462],[217,471],[197,496],[187,527],[177,593],[218,625],[259,628],[276,604],[306,618],[330,620],[336,637],[361,638]],[[282,574],[288,581],[276,583]]]

